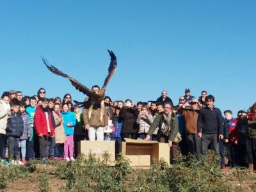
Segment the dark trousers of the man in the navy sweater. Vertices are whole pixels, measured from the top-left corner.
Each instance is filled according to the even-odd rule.
[[[202,145],[202,154],[205,155],[209,146],[209,142],[212,145],[212,149],[217,153],[220,154],[220,147],[219,147],[219,140],[218,134],[207,134],[202,133],[201,138],[201,145]]]

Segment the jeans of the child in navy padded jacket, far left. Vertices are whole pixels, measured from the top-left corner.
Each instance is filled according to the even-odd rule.
[[[20,137],[19,136],[8,136],[8,150],[9,158],[20,159]]]

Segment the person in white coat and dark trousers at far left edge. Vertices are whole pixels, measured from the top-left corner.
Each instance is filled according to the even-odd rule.
[[[0,99],[0,164],[9,164],[3,157],[3,148],[6,134],[7,119],[11,115],[10,111],[10,95],[3,93]]]

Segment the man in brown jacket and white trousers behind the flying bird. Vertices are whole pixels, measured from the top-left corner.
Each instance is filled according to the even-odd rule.
[[[99,86],[94,85],[92,87],[92,91],[99,90]],[[104,127],[108,126],[108,115],[106,109],[104,108],[104,115],[102,121],[100,121],[100,105],[93,105],[92,115],[89,119],[88,111],[90,108],[90,102],[88,101],[88,97],[84,100],[84,108],[83,108],[83,120],[84,127],[88,130],[89,140],[95,141],[95,137],[97,136],[97,141],[104,140]]]

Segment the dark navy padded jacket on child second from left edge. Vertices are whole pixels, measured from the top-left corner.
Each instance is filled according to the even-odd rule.
[[[6,136],[22,136],[23,131],[24,125],[20,113],[11,113],[7,121]]]

